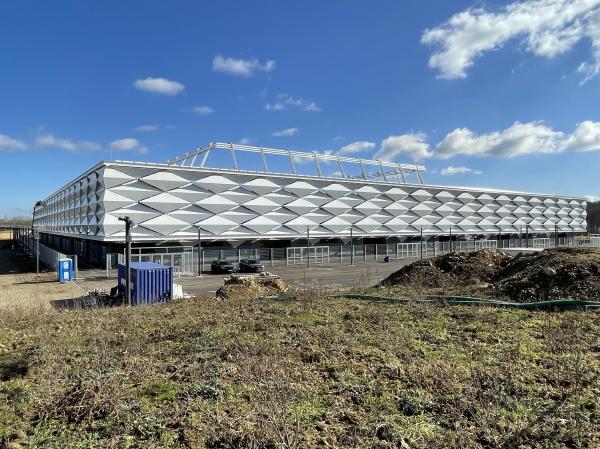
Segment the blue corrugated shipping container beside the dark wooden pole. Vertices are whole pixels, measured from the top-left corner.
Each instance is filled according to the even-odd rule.
[[[119,293],[125,297],[125,265],[119,264]],[[131,263],[131,305],[166,302],[173,298],[173,267],[152,262]]]

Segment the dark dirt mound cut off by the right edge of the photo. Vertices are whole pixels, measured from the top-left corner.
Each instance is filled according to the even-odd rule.
[[[546,249],[515,256],[489,286],[496,297],[518,302],[546,299],[600,299],[600,250]]]

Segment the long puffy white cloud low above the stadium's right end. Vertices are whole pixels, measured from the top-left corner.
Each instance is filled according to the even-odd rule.
[[[572,134],[554,131],[542,122],[515,122],[503,131],[476,135],[467,128],[448,133],[437,145],[435,156],[456,155],[516,157],[526,154],[600,150],[600,122],[584,121]]]

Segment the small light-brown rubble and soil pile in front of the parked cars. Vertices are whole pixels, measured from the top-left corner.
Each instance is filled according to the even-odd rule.
[[[287,292],[289,286],[278,276],[261,273],[258,276],[238,276],[232,274],[225,285],[217,290],[221,299],[257,299],[261,296],[280,295]]]

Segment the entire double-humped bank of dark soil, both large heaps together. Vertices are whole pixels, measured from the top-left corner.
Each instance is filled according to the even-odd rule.
[[[453,294],[475,286],[482,296],[517,302],[600,300],[600,250],[553,248],[514,257],[489,250],[451,253],[407,265],[381,285],[441,288]]]

